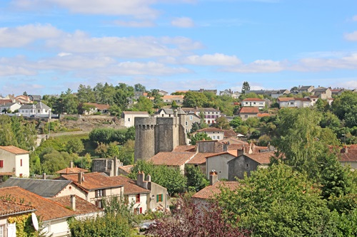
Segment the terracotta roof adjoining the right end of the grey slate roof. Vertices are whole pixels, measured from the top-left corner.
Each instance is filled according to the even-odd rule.
[[[78,174],[63,174],[61,178],[71,180],[77,186],[81,187],[85,191],[94,190],[94,189],[105,189],[110,187],[116,186],[123,186],[118,182],[109,179],[103,173],[93,172],[93,173],[86,173],[83,174],[84,181],[81,184],[78,182]]]

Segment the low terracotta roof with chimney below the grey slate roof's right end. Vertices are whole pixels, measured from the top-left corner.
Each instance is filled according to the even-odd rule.
[[[52,201],[56,201],[56,203],[61,204],[62,206],[71,207],[71,195],[67,196],[59,196],[56,198],[50,199]],[[91,214],[98,213],[103,211],[102,209],[96,207],[94,204],[91,204],[89,201],[86,201],[79,196],[76,196],[76,211],[78,214]]]

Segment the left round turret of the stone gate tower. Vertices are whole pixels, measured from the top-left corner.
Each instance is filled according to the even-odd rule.
[[[155,155],[156,117],[136,117],[134,160],[150,159]]]

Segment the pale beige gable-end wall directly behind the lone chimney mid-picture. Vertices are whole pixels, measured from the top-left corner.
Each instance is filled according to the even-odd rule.
[[[235,155],[224,153],[215,156],[207,157],[206,159],[206,177],[209,179],[209,172],[215,170],[218,174],[218,179],[228,179],[228,164],[231,159],[236,158]]]

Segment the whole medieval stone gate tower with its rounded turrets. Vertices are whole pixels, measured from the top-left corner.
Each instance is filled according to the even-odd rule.
[[[186,144],[184,114],[174,117],[136,117],[134,159],[150,159],[159,152],[172,152]]]

